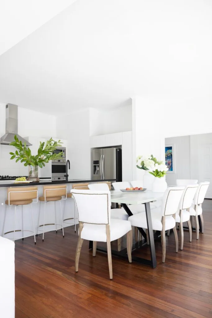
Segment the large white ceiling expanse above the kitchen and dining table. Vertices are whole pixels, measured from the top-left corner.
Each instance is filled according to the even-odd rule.
[[[212,95],[211,17],[210,0],[77,0],[0,56],[0,101],[57,114]]]

